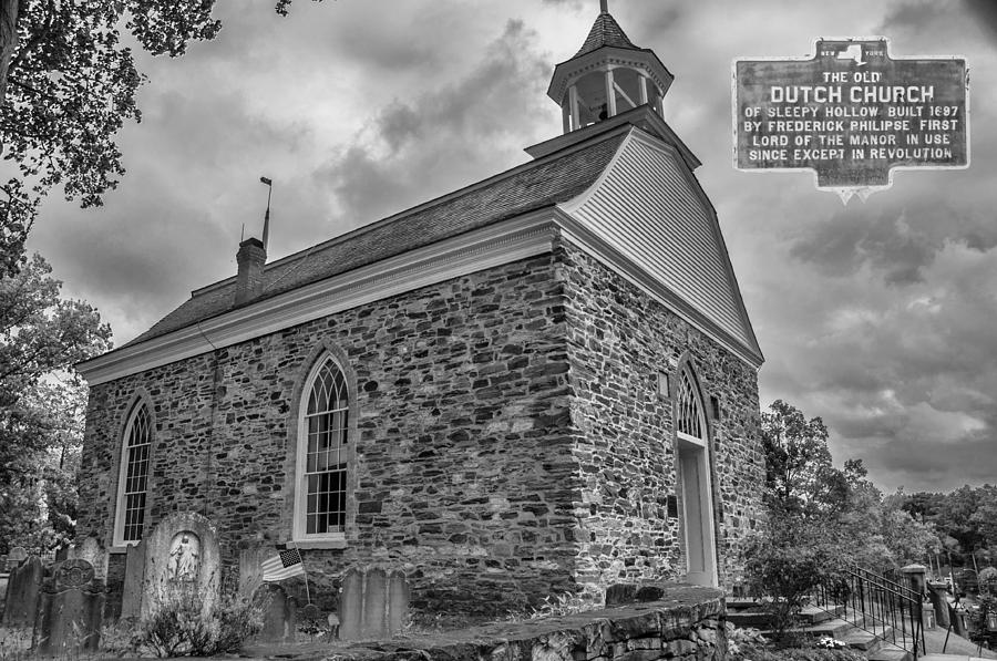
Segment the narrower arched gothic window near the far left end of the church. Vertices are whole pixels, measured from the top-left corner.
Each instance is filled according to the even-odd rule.
[[[115,546],[137,544],[142,539],[151,450],[152,421],[145,404],[140,402],[129,416],[122,440],[117,515],[114,519]]]

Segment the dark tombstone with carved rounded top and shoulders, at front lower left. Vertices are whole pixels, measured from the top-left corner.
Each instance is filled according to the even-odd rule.
[[[86,560],[61,562],[44,586],[34,624],[34,648],[42,657],[96,651],[104,612],[104,581]]]

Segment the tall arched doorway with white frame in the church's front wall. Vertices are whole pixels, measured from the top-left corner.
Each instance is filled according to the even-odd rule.
[[[678,385],[676,473],[682,499],[686,580],[700,586],[717,586],[709,432],[702,397],[688,365],[680,371]]]

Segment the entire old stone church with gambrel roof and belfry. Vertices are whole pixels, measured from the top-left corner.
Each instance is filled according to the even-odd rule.
[[[373,566],[469,613],[736,583],[763,359],[671,82],[604,2],[532,161],[271,262],[247,239],[235,276],[79,365],[78,530],[111,582],[189,512],[227,571],[301,549],[326,601]]]

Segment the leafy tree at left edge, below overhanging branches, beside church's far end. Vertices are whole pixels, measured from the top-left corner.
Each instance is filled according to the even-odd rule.
[[[75,526],[85,388],[68,370],[110,349],[111,329],[39,257],[0,278],[0,545],[42,550]]]

